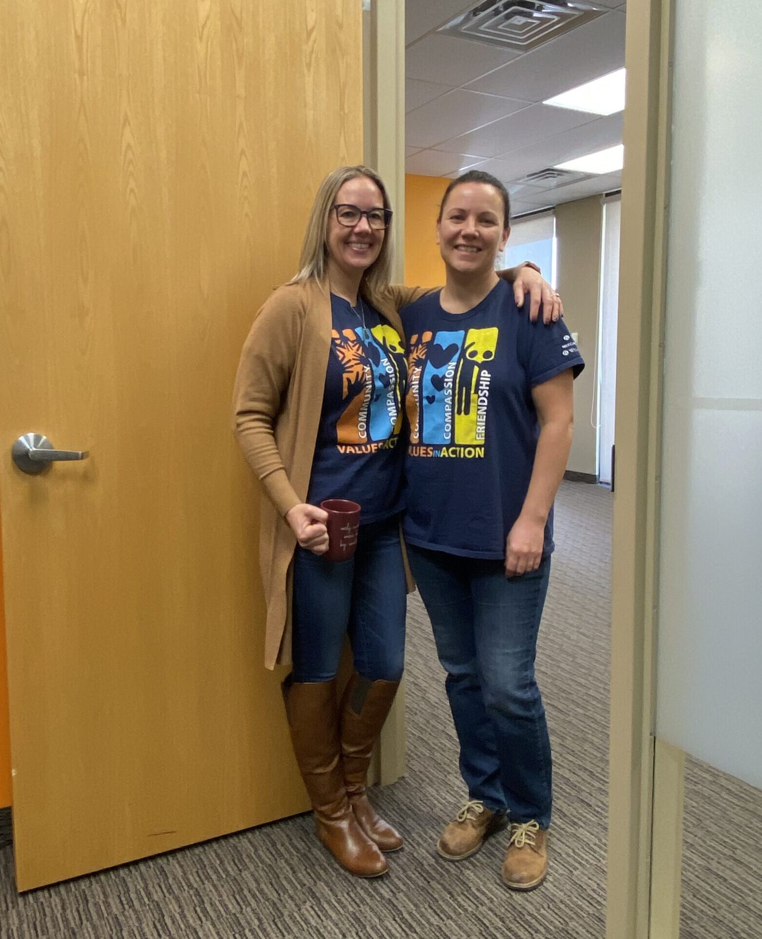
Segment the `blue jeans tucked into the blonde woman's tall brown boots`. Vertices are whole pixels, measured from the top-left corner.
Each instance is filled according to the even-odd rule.
[[[361,525],[357,550],[346,561],[327,561],[297,547],[293,681],[330,681],[348,634],[361,675],[373,682],[398,682],[404,668],[404,618],[399,516]]]

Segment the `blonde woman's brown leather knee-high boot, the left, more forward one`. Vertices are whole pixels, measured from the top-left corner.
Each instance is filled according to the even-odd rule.
[[[378,877],[386,873],[384,855],[358,824],[344,788],[335,680],[287,680],[283,699],[318,838],[351,874]]]

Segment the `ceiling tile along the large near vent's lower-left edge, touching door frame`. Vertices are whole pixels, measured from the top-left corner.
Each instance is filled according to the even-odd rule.
[[[437,33],[407,49],[405,75],[422,82],[457,87],[510,62],[517,55],[510,49]]]

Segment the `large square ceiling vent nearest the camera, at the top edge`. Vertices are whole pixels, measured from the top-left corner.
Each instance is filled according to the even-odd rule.
[[[605,12],[576,0],[485,0],[441,26],[439,32],[526,53]]]

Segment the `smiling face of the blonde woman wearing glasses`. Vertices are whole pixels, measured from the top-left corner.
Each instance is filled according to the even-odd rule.
[[[355,177],[343,183],[336,193],[334,205],[357,206],[362,209],[384,208],[381,190],[368,177]],[[334,209],[328,218],[328,271],[331,266],[344,274],[357,274],[371,267],[381,252],[386,231],[371,228],[366,216],[352,228],[336,218]]]

